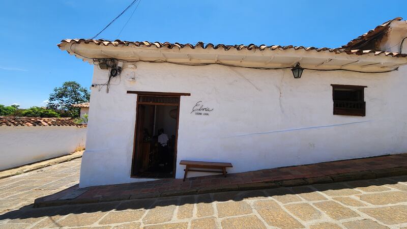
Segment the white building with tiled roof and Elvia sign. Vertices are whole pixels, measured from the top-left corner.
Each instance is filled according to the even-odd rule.
[[[405,37],[395,18],[335,49],[63,40],[94,65],[80,186],[405,153]]]

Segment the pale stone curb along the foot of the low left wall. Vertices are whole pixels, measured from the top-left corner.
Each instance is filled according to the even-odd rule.
[[[16,176],[16,175],[20,175],[20,174],[24,174],[24,173],[28,173],[29,171],[33,171],[33,170],[37,170],[37,169],[40,169],[40,168],[48,167],[48,166],[51,166],[51,165],[54,165],[54,164],[60,164],[60,163],[63,163],[63,162],[72,161],[74,159],[81,158],[82,153],[83,153],[83,151],[77,151],[77,152],[67,154],[67,155],[63,155],[63,156],[60,156],[60,157],[50,158],[50,159],[47,159],[47,160],[44,160],[44,161],[34,162],[32,164],[22,165],[20,167],[0,171],[0,179],[7,178],[7,177],[12,177],[12,176]]]

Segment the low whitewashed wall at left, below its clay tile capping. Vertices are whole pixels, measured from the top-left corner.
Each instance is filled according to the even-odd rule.
[[[0,170],[81,150],[85,140],[85,127],[0,126]]]

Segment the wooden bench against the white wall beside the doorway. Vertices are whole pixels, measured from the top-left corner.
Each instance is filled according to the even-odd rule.
[[[185,174],[184,174],[184,181],[187,177],[188,171],[200,171],[206,173],[220,173],[226,177],[226,168],[233,167],[231,163],[223,163],[223,162],[208,162],[208,161],[186,161],[181,160],[181,165],[185,165]],[[207,168],[207,169],[219,169],[219,170],[204,170],[204,169],[191,169],[191,168]]]

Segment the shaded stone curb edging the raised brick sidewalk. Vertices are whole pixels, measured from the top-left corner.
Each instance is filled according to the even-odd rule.
[[[304,179],[290,179],[275,182],[258,182],[258,183],[246,183],[236,185],[224,185],[213,186],[204,188],[192,188],[186,190],[170,190],[164,192],[153,193],[141,193],[134,195],[122,195],[122,196],[101,196],[98,198],[78,198],[78,199],[57,199],[55,201],[44,201],[45,197],[37,198],[34,202],[34,208],[50,207],[60,205],[73,205],[73,204],[87,204],[87,203],[100,203],[110,201],[125,201],[127,199],[147,199],[169,196],[181,196],[181,195],[194,195],[213,192],[225,192],[225,191],[246,191],[257,189],[270,189],[278,187],[293,187],[311,184],[324,184],[342,181],[354,181],[354,180],[366,180],[382,177],[403,176],[407,175],[407,167],[394,167],[383,168],[367,171],[355,171],[352,173],[334,174],[329,176],[304,178]]]

